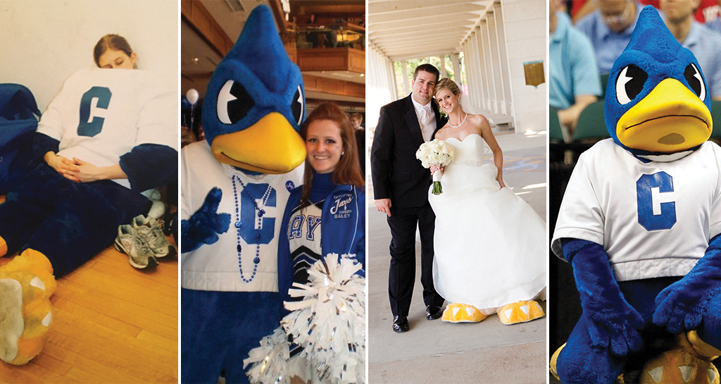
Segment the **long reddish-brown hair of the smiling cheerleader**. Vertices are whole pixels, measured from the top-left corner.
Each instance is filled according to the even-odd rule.
[[[350,125],[350,119],[335,103],[324,102],[311,112],[301,126],[301,137],[306,141],[308,127],[317,120],[329,120],[340,128],[340,140],[342,141],[342,152],[338,165],[331,180],[335,184],[349,184],[358,188],[366,185],[361,174],[361,164],[358,162],[358,145],[355,144],[355,131]],[[303,175],[303,191],[301,192],[301,206],[310,205],[311,186],[313,184],[313,168],[306,160],[305,172]]]

